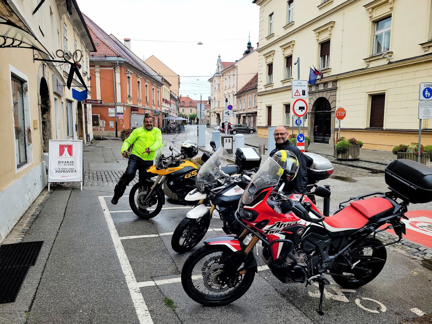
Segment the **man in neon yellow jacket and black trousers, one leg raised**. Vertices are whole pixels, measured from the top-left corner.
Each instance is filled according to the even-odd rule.
[[[144,126],[133,130],[130,136],[124,140],[123,146],[121,146],[121,154],[125,158],[129,158],[129,162],[126,171],[114,188],[114,197],[111,199],[111,203],[114,205],[123,196],[126,186],[135,178],[137,170],[140,181],[152,176],[146,170],[153,165],[155,152],[162,146],[162,132],[159,128],[153,127],[153,123],[154,118],[146,115],[144,117]],[[132,152],[128,152],[127,149],[132,144]]]

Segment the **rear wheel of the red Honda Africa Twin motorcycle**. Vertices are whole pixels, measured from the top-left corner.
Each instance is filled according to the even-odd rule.
[[[339,257],[336,262],[342,264],[341,270],[330,270],[335,273],[332,275],[334,281],[343,288],[357,288],[374,280],[387,260],[387,250],[384,246],[379,247],[380,245],[381,241],[373,238],[365,238],[355,243],[347,256],[354,268],[351,269],[346,260]]]

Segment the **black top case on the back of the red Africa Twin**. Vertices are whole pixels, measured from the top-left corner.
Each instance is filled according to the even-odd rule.
[[[385,183],[410,203],[432,201],[432,168],[419,162],[399,159],[385,167]]]

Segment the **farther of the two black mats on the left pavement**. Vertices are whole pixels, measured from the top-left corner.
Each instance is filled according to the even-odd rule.
[[[44,241],[0,245],[0,268],[33,266]]]

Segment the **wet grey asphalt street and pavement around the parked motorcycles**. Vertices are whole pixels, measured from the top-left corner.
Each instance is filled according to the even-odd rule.
[[[176,148],[195,138],[196,127],[164,135]],[[76,183],[54,186],[32,224],[17,225],[9,243],[44,241],[15,303],[0,305],[2,323],[399,323],[432,312],[432,271],[404,245],[388,248],[381,274],[359,289],[342,289],[331,278],[318,315],[318,288],[283,284],[254,251],[258,273],[248,292],[230,305],[203,307],[184,292],[180,274],[191,253],[177,254],[171,235],[188,206],[165,203],[153,219],[139,219],[127,193],[112,205],[114,185],[127,165],[119,140],[95,141],[84,152],[83,191]],[[332,190],[330,210],[340,201],[386,190],[383,175],[358,168],[337,167],[335,177],[322,181]],[[130,188],[131,185],[128,187]],[[318,201],[322,207],[322,201]],[[430,204],[411,205],[430,209]],[[410,210],[412,210],[410,208]],[[213,215],[206,237],[221,235],[222,221]],[[15,236],[14,236],[15,235]],[[389,240],[391,235],[382,239]],[[194,249],[196,250],[196,248]],[[194,251],[193,250],[193,251]],[[426,250],[429,251],[429,250]],[[432,252],[432,250],[430,250]]]

